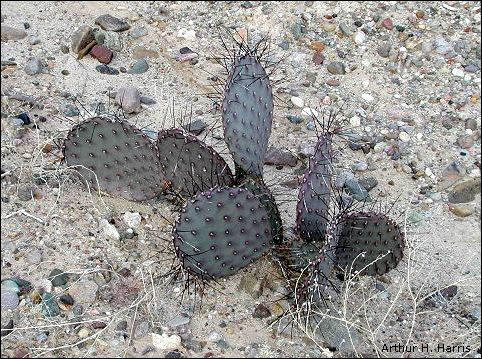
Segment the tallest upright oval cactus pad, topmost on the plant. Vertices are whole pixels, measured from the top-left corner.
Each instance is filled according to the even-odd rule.
[[[224,139],[234,162],[248,175],[263,174],[273,106],[270,80],[263,66],[255,56],[237,57],[226,82],[222,119]]]

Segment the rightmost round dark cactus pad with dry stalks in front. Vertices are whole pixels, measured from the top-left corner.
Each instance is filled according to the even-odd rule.
[[[341,268],[352,268],[352,272],[361,271],[363,275],[381,275],[395,268],[402,259],[404,234],[385,214],[350,213],[340,226],[336,258]],[[378,259],[380,256],[383,258]]]

